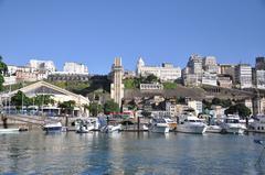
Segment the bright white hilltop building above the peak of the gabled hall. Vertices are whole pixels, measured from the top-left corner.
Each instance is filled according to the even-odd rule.
[[[29,67],[43,70],[43,72],[55,72],[55,65],[53,61],[38,61],[38,59],[30,59],[30,63],[28,64]]]

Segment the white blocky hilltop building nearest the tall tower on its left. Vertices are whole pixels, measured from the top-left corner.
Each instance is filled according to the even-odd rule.
[[[70,74],[88,74],[87,66],[74,62],[66,62],[64,63],[64,73]]]

